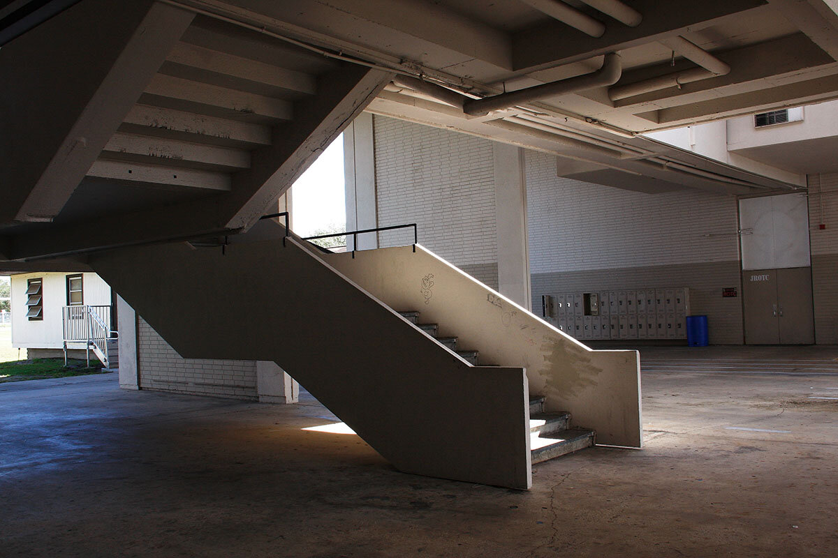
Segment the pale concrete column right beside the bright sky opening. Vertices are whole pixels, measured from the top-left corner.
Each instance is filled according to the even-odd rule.
[[[362,112],[344,131],[344,181],[346,230],[377,227],[375,136],[369,113]],[[346,238],[346,247],[353,249],[351,236]],[[373,248],[378,248],[377,233],[366,233],[358,238],[358,249]]]

